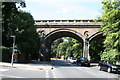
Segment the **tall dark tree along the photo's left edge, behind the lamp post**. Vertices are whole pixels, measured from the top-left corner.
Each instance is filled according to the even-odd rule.
[[[16,14],[18,14],[18,11],[13,2],[3,2],[2,6],[2,45],[11,47],[12,39],[10,37],[16,29],[14,26],[11,26],[11,24]]]

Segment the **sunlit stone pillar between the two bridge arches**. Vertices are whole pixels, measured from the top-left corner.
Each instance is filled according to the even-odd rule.
[[[88,58],[88,60],[90,60],[89,40],[88,40],[88,39],[85,39],[85,40],[84,40],[84,45],[83,45],[83,57]]]

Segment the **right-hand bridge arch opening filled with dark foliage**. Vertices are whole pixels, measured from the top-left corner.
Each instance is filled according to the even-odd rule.
[[[103,36],[103,33],[104,32],[98,31],[88,38],[89,39],[89,55],[92,61],[99,61],[101,59],[99,53],[104,51],[103,41],[105,39],[105,36]],[[95,45],[93,45],[93,43]]]

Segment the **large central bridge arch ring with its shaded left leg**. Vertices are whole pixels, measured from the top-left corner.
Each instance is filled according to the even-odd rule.
[[[45,48],[49,50],[49,54],[48,55],[45,54],[47,57],[50,57],[51,55],[51,44],[53,43],[53,41],[61,37],[72,37],[78,40],[79,42],[81,42],[83,45],[83,35],[71,29],[57,29],[48,33],[45,36],[44,45],[45,45]],[[45,59],[49,59],[49,58],[45,58]]]

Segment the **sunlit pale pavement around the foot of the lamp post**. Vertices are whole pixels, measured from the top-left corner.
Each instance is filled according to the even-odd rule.
[[[11,63],[0,62],[0,67],[10,67],[10,68],[19,68],[26,70],[50,70],[53,69],[53,66],[50,62],[37,61],[32,63]]]

